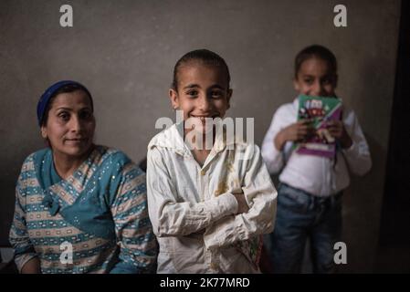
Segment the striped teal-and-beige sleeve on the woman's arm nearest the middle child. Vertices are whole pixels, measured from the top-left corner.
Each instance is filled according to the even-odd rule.
[[[111,204],[119,262],[111,274],[153,272],[157,243],[148,216],[145,174],[132,162],[121,171],[121,183]]]

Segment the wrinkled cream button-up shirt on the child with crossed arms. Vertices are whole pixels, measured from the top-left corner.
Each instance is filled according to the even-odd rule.
[[[176,125],[148,146],[147,194],[158,273],[258,273],[260,235],[273,230],[277,192],[258,146],[216,138],[201,167]],[[240,155],[250,153],[249,160]],[[237,214],[244,193],[249,210]]]

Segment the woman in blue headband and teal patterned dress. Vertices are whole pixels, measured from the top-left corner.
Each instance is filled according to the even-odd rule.
[[[48,148],[26,158],[10,230],[21,273],[144,273],[156,260],[145,175],[93,144],[89,90],[59,81],[37,104]]]

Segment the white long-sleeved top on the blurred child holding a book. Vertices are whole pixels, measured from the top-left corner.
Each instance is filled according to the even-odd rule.
[[[283,151],[276,149],[274,139],[280,130],[297,121],[298,99],[279,107],[275,112],[262,143],[262,157],[268,171],[281,171],[279,181],[317,196],[329,196],[349,186],[348,169],[363,175],[372,167],[369,147],[359,121],[352,110],[343,109],[342,121],[352,139],[352,146],[337,152],[334,159],[299,154],[291,151],[292,142],[285,143]],[[282,170],[283,169],[283,170]]]

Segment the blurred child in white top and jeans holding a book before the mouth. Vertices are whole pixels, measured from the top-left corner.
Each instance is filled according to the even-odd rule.
[[[321,46],[304,48],[295,60],[293,85],[299,94],[336,97],[336,57]],[[371,168],[367,142],[352,110],[342,120],[328,122],[336,139],[334,158],[292,151],[294,142],[314,132],[310,120],[297,122],[298,99],[277,110],[262,144],[268,171],[279,175],[276,227],[268,235],[273,271],[299,273],[306,240],[310,239],[313,271],[331,273],[333,245],[342,232],[342,191],[349,186],[349,172],[364,174]]]

